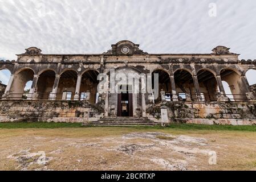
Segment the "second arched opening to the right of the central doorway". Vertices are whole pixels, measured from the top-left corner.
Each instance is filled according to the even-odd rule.
[[[191,73],[179,69],[174,73],[174,82],[179,100],[196,100],[196,89]]]

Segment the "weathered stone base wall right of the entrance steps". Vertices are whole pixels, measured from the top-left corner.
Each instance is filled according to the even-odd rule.
[[[167,102],[164,105],[171,123],[256,125],[256,102]],[[148,114],[157,118],[161,106],[149,107]]]

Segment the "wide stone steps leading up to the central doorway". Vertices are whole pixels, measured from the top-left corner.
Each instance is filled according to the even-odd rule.
[[[98,121],[91,121],[83,123],[83,126],[156,126],[160,125],[149,118],[135,118],[135,117],[104,117]]]

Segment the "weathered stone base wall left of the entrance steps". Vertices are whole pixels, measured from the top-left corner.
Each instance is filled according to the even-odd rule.
[[[101,117],[100,104],[78,101],[0,101],[0,122],[87,122]]]

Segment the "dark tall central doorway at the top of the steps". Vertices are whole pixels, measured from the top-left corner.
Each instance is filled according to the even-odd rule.
[[[133,116],[132,93],[128,93],[128,90],[129,86],[127,86],[127,91],[121,92],[117,95],[117,117]]]

